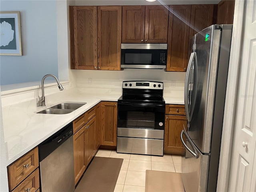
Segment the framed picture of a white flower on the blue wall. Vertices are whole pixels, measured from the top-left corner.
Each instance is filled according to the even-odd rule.
[[[0,55],[21,56],[20,12],[0,12]]]

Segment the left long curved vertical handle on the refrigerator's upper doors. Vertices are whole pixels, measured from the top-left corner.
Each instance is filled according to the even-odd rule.
[[[190,59],[188,62],[188,70],[186,72],[186,78],[185,78],[184,104],[185,104],[185,112],[186,112],[186,117],[187,117],[188,122],[190,122],[190,112],[189,112],[189,108],[188,108],[188,89],[189,89],[188,78],[190,76],[192,62],[194,60],[195,54],[196,54],[195,52],[192,52],[190,55]]]

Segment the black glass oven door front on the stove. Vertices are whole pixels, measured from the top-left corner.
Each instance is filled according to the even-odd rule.
[[[164,130],[164,106],[118,104],[118,127]]]

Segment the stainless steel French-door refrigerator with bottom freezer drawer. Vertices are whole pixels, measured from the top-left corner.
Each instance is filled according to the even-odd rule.
[[[193,37],[184,100],[188,130],[181,132],[186,154],[186,192],[216,191],[232,25],[212,25]]]

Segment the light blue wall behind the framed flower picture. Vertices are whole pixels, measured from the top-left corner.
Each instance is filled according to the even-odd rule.
[[[20,11],[22,56],[1,56],[1,84],[58,76],[55,0],[1,0],[1,11]],[[67,79],[62,79],[67,80]]]

